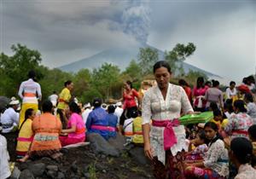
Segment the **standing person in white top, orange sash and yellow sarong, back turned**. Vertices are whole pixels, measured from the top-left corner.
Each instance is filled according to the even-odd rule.
[[[26,109],[32,108],[35,112],[38,112],[38,100],[41,100],[41,86],[36,82],[36,72],[28,72],[28,80],[20,84],[20,90],[18,95],[22,99],[22,106],[20,111],[20,125],[25,120]]]

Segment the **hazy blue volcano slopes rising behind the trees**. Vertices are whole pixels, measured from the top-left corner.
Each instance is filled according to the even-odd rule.
[[[141,47],[150,47],[156,49],[149,45],[106,49],[96,55],[91,55],[90,57],[84,58],[80,61],[74,61],[67,65],[60,66],[59,69],[65,72],[79,72],[79,70],[82,68],[94,69],[102,66],[103,63],[107,62],[119,66],[119,68],[123,71],[125,70],[125,67],[129,65],[132,59],[137,61],[137,55],[139,52],[139,48]],[[165,53],[160,49],[157,50],[160,60],[164,59]],[[183,69],[186,73],[189,72],[189,70],[192,70],[197,72],[204,72],[209,78],[221,78],[220,76],[213,74],[212,72],[207,72],[186,62],[183,62]]]

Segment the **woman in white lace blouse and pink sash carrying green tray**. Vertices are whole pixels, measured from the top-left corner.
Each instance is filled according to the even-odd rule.
[[[166,61],[154,64],[157,86],[147,90],[143,97],[143,138],[145,155],[154,164],[154,176],[176,179],[184,178],[183,149],[187,148],[184,126],[177,118],[181,110],[189,114],[193,108],[183,88],[169,83],[171,74]]]

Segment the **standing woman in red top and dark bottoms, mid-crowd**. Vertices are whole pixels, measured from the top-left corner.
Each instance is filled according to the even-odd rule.
[[[125,124],[126,118],[131,118],[131,113],[137,112],[137,98],[138,105],[141,102],[141,98],[137,90],[132,89],[131,81],[126,81],[124,84],[123,101],[124,101],[124,112],[122,113],[119,121],[119,131],[123,131],[123,125]]]

